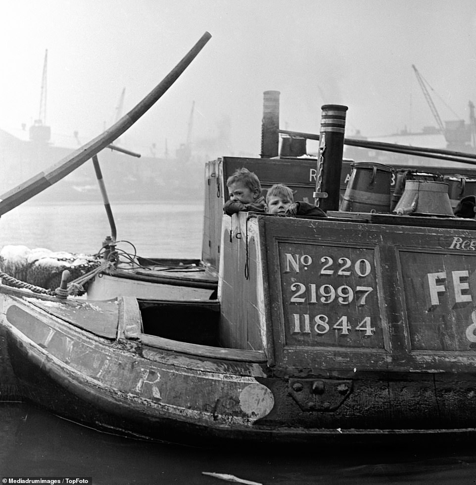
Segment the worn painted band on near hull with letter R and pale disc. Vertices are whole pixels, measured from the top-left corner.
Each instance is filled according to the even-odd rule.
[[[4,324],[10,332],[39,359],[63,367],[63,372],[84,385],[140,400],[145,409],[204,422],[249,426],[272,407],[269,389],[252,376],[159,364],[141,357],[137,348],[126,351],[99,337],[93,339],[41,311],[25,308],[22,302],[12,302],[5,317]],[[261,394],[250,384],[256,384]],[[191,388],[193,392],[187,392]],[[250,389],[255,390],[254,394],[250,394]],[[257,395],[261,398],[256,399]]]

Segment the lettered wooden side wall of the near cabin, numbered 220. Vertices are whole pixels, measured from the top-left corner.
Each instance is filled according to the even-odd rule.
[[[282,365],[294,367],[314,362],[336,369],[474,372],[476,231],[268,216],[260,219],[266,234],[268,264],[274,268],[270,269],[266,284],[271,296],[274,344]],[[295,234],[299,234],[299,239],[293,237]],[[291,249],[288,251],[286,247]],[[299,260],[299,273],[292,264],[286,266],[283,259],[286,252],[294,250],[300,257],[313,258],[312,263],[309,259]],[[361,261],[361,274],[358,277],[351,274],[357,268],[356,258],[367,260],[370,271],[364,270]],[[305,262],[317,265],[317,271],[310,265],[305,269]],[[341,274],[342,282],[338,282],[335,271],[344,268],[347,262],[351,263],[351,271]],[[326,274],[323,269],[334,272]],[[302,286],[291,288],[293,283]],[[311,288],[311,284],[315,287]],[[326,301],[331,286],[332,304]],[[348,288],[353,289],[355,297],[357,286],[373,290],[365,305],[353,307],[355,298],[352,304],[346,298]],[[343,298],[340,306],[334,305],[339,288]],[[298,299],[291,303],[292,296]],[[320,316],[318,320],[310,318],[307,334],[292,335],[296,328],[293,315],[301,316],[302,332],[305,328],[302,315],[308,311],[310,314],[311,308],[312,316]],[[371,319],[369,328],[375,330],[367,335],[366,325],[362,324],[359,336],[352,337],[351,333],[362,322],[359,312],[363,308]],[[322,323],[323,315],[329,318],[329,328]],[[342,331],[339,319],[343,316],[351,325],[349,335]],[[357,320],[352,322],[355,317]],[[333,327],[335,323],[337,328]]]

